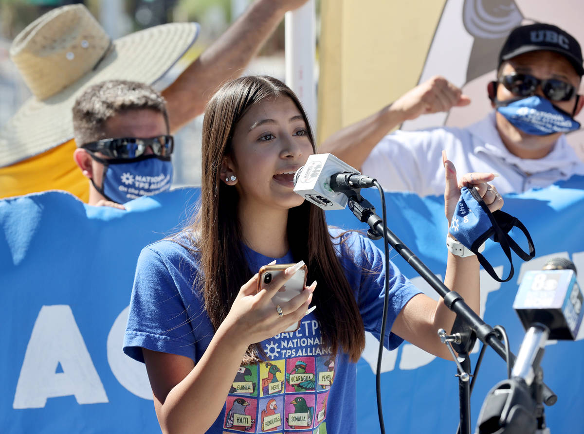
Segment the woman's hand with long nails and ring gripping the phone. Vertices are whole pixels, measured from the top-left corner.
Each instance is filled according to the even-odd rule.
[[[269,266],[273,264],[269,264]],[[303,266],[304,262],[300,261],[297,264],[287,266],[286,269],[278,273],[270,271],[272,277],[268,279],[267,283],[265,279],[260,280],[260,274],[265,276],[265,272],[253,276],[239,290],[231,310],[225,318],[224,325],[249,344],[271,338],[292,327],[296,329],[307,312],[308,305],[312,300],[312,291],[317,283],[313,282],[311,286],[304,286],[300,293],[288,301],[281,300],[281,296],[279,296],[276,297],[276,303],[274,303],[272,298]],[[266,267],[262,267],[262,269],[265,271]],[[276,305],[280,306],[281,316]]]

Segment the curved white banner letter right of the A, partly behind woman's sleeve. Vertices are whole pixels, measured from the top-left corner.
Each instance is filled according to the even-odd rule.
[[[123,387],[140,398],[152,401],[152,389],[146,365],[126,356],[121,349],[129,311],[130,306],[121,311],[107,335],[107,363],[114,377]]]

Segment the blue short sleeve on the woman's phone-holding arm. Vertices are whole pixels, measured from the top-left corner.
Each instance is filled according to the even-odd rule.
[[[180,263],[180,261],[179,261]],[[168,258],[142,249],[134,277],[124,353],[144,362],[142,348],[195,360],[193,327],[181,297],[182,275]]]

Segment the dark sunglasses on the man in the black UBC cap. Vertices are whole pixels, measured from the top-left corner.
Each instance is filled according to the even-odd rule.
[[[518,96],[534,95],[537,86],[541,86],[541,91],[545,95],[545,98],[551,101],[568,101],[576,93],[576,88],[565,81],[555,78],[540,80],[529,74],[503,75],[497,81],[505,86],[507,91]]]

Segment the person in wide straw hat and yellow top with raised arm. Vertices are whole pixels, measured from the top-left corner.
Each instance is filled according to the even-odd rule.
[[[176,131],[203,112],[222,82],[237,77],[281,21],[307,0],[255,0],[162,95]],[[75,165],[75,99],[108,79],[157,82],[193,44],[196,23],[169,23],[111,40],[83,5],[53,9],[16,36],[10,55],[33,93],[0,130],[0,198],[48,189],[87,202]]]

